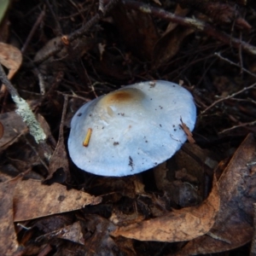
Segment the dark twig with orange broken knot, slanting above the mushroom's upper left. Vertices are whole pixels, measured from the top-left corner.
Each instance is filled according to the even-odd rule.
[[[69,35],[64,36],[65,41],[71,43],[75,39],[80,38],[83,36],[86,32],[90,30],[92,26],[95,26],[101,19],[102,16],[106,15],[112,8],[113,6],[118,3],[119,0],[110,0],[109,3],[104,7],[104,11],[101,13],[96,14],[93,16],[90,20],[88,20],[84,26],[80,27],[77,31],[70,33]],[[57,45],[55,45],[55,48],[52,50],[49,50],[47,54],[43,55],[40,59],[37,61],[34,61],[35,65],[39,65],[42,62],[46,61],[50,56],[57,54],[58,52],[61,51],[61,49],[64,47],[64,44],[61,40],[61,42]]]

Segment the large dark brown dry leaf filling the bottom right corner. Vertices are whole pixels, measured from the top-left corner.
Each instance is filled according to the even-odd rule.
[[[218,253],[241,247],[253,237],[256,175],[250,173],[256,143],[252,134],[241,143],[218,181],[220,210],[212,230],[195,238],[176,255]]]

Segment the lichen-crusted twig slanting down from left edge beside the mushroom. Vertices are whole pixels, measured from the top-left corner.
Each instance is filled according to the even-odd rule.
[[[34,114],[32,113],[31,108],[27,104],[27,102],[20,97],[18,91],[15,89],[14,85],[11,84],[9,79],[7,78],[6,74],[3,71],[3,67],[0,64],[0,80],[3,84],[8,88],[10,95],[12,96],[13,101],[16,104],[16,113],[20,115],[23,121],[29,128],[29,131],[34,137],[37,143],[43,143],[46,139],[46,135],[44,133],[43,128],[38,123],[38,120],[35,118]]]

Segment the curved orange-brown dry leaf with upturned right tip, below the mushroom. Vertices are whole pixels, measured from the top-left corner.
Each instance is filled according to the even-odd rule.
[[[111,235],[140,241],[189,241],[212,228],[218,207],[218,185],[215,182],[212,192],[201,206],[175,210],[159,218],[120,227]]]

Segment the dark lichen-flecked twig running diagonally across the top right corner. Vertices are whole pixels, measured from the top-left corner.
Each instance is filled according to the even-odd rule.
[[[108,0],[106,1],[108,2]],[[214,26],[211,26],[201,20],[174,15],[170,12],[167,12],[164,9],[152,7],[146,3],[129,1],[129,0],[122,0],[122,3],[124,3],[128,9],[137,9],[145,14],[154,15],[155,17],[158,17],[162,20],[172,21],[182,26],[193,27],[198,31],[205,32],[208,36],[212,38],[218,39],[224,44],[228,44],[228,45],[231,44],[236,49],[239,49],[239,47],[241,46],[241,49],[246,50],[248,53],[256,55],[255,46],[251,44],[247,44],[246,42],[241,41],[238,38],[232,38],[230,37],[230,35],[226,34],[225,32],[220,32]]]

